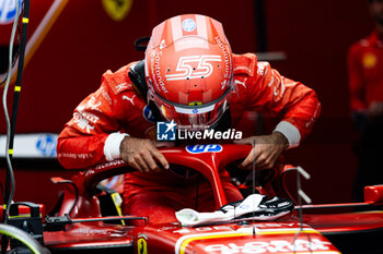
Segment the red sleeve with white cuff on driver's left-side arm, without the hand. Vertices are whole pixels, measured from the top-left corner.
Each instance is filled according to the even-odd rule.
[[[65,168],[86,168],[113,160],[119,153],[114,144],[127,134],[119,132],[121,112],[115,107],[118,101],[111,104],[111,98],[113,94],[104,81],[74,109],[57,144],[57,157]]]

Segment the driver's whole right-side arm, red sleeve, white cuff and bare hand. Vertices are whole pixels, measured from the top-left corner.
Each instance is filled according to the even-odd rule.
[[[253,59],[249,62],[256,61],[254,55],[246,57]],[[256,168],[270,168],[286,148],[298,146],[311,132],[320,116],[321,104],[313,89],[280,75],[268,62],[258,62],[253,64],[253,70],[247,70],[246,78],[242,78],[246,82],[245,86],[237,87],[246,110],[258,111],[281,121],[269,135],[237,142],[255,143],[255,148],[242,166],[255,161]]]

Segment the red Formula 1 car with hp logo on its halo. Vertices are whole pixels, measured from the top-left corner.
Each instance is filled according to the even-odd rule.
[[[162,148],[161,152],[171,167],[193,168],[205,176],[211,183],[216,207],[220,208],[227,199],[219,170],[245,158],[251,149],[248,145],[230,144]],[[269,196],[283,195],[278,185],[283,185],[280,183],[286,173],[297,172],[294,169],[286,166],[270,171],[256,189]],[[43,219],[44,232],[39,239],[43,245],[51,253],[383,253],[380,240],[383,239],[380,210],[383,186],[365,188],[364,203],[295,204],[294,210],[274,220],[234,218],[195,227],[179,222],[150,225],[140,215],[105,216],[103,213],[105,190],[100,192],[97,184],[131,170],[117,160],[81,171],[71,180],[53,179],[65,186],[63,198],[56,216]],[[337,213],[339,207],[363,207],[364,211]],[[322,208],[332,208],[332,213],[316,213]],[[306,209],[311,213],[302,216],[301,211]],[[128,226],[131,220],[142,220],[144,226]]]

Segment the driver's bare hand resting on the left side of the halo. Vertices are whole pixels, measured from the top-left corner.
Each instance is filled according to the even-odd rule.
[[[119,146],[119,152],[121,159],[140,172],[161,171],[161,167],[169,169],[169,162],[156,147],[169,145],[164,143],[156,145],[154,141],[148,138],[126,136]]]

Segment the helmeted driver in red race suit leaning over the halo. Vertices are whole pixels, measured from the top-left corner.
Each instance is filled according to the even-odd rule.
[[[125,214],[151,223],[175,221],[175,210],[213,210],[210,185],[171,168],[158,149],[155,122],[173,121],[190,132],[235,128],[245,110],[278,117],[272,133],[255,143],[242,162],[271,168],[280,154],[311,132],[321,104],[313,89],[278,73],[254,53],[234,55],[221,23],[197,14],[174,16],[152,31],[143,61],[103,74],[101,87],[74,110],[58,140],[66,168],[123,159],[137,171],[125,176]],[[242,199],[225,170],[220,172],[228,202]]]

